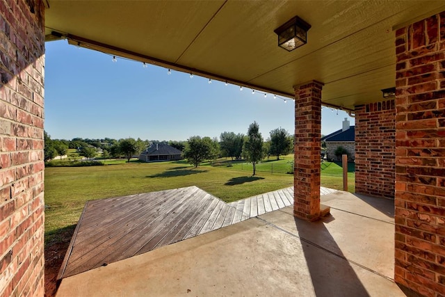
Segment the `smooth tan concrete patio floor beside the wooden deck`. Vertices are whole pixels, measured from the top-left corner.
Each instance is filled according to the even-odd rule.
[[[64,278],[57,296],[405,296],[394,201],[338,191],[315,223],[292,207]]]

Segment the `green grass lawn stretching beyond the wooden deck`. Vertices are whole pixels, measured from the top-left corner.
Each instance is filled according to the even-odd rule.
[[[107,160],[106,166],[45,168],[45,244],[57,242],[64,228],[77,223],[87,200],[198,186],[225,202],[232,202],[292,186],[293,175],[277,172],[279,168],[283,172],[290,169],[292,159],[284,158],[259,164],[254,177],[248,163],[234,162],[227,166],[231,162],[225,159],[220,159],[218,166],[204,163],[198,168],[185,161],[140,163],[137,160],[130,163]],[[271,168],[272,164],[270,172],[266,166]],[[260,170],[264,168],[265,172]],[[322,185],[341,189],[341,172],[338,164],[323,162]],[[348,176],[349,189],[353,191],[353,172]]]

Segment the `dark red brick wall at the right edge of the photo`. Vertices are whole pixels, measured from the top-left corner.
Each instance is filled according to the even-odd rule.
[[[396,31],[395,280],[445,296],[445,12]]]

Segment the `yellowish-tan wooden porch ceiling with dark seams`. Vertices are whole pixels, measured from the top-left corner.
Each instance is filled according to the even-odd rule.
[[[325,83],[323,103],[354,109],[395,86],[395,29],[445,10],[445,1],[54,1],[47,40],[293,96]],[[312,28],[288,52],[273,32],[298,15]]]

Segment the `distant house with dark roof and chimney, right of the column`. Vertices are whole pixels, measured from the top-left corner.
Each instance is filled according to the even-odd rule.
[[[348,160],[355,159],[355,126],[350,126],[348,118],[343,120],[343,127],[334,133],[321,138],[326,143],[326,158],[332,161],[341,161],[341,157],[335,155],[337,147],[344,147],[348,151]]]

